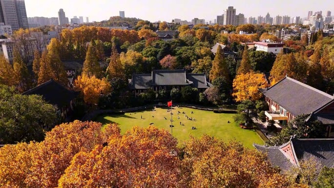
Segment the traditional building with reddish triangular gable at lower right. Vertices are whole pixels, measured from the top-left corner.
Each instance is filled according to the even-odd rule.
[[[314,162],[316,173],[323,167],[334,167],[334,139],[296,139],[292,137],[282,146],[253,145],[266,153],[272,167],[280,167],[281,173],[292,167],[300,167],[301,161]],[[315,180],[313,180],[315,181]]]

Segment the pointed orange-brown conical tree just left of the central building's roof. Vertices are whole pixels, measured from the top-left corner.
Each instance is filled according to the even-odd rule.
[[[112,46],[107,73],[109,74],[110,78],[124,78],[124,67],[121,63],[120,55],[118,54],[115,45]]]

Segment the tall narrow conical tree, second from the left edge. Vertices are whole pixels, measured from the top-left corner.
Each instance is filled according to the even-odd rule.
[[[27,91],[32,86],[32,80],[27,65],[23,63],[21,54],[17,48],[14,48],[13,57],[14,74],[17,79],[16,83],[18,83],[18,89],[21,92]]]

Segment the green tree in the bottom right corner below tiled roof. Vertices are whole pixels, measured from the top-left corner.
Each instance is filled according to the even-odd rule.
[[[334,168],[323,167],[314,188],[334,188]]]

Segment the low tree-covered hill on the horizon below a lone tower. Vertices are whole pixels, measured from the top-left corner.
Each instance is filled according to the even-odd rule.
[[[101,21],[102,26],[105,27],[119,27],[119,26],[128,26],[135,27],[138,21],[142,21],[137,18],[121,18],[119,16],[110,17],[109,20]]]

